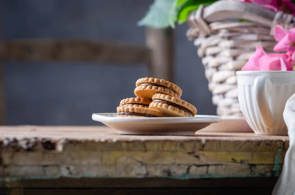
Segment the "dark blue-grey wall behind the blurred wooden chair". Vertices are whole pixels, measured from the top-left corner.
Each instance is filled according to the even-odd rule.
[[[152,0],[2,0],[4,40],[90,38],[145,44],[136,23]],[[197,49],[176,28],[175,83],[182,99],[199,114],[215,114]],[[4,62],[9,125],[96,125],[93,112],[116,112],[134,96],[135,81],[147,76],[144,64]]]

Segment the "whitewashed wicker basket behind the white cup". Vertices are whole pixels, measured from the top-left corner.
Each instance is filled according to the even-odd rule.
[[[252,3],[220,0],[200,6],[190,13],[187,23],[187,37],[199,48],[217,114],[241,116],[236,71],[254,54],[256,46],[273,52],[273,28],[278,24],[285,29],[294,28],[295,18]]]

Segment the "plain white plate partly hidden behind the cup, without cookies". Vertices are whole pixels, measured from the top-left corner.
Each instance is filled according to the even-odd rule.
[[[243,116],[221,116],[220,123],[214,123],[202,132],[253,132]]]

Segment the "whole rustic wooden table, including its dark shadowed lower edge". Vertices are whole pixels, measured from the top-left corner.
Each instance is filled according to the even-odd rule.
[[[0,127],[9,195],[270,194],[287,136],[123,136],[104,126]],[[255,189],[254,189],[255,188]]]

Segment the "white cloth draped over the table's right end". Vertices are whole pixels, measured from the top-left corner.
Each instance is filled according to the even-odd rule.
[[[272,195],[295,195],[295,94],[287,101],[283,116],[288,127],[290,144]]]

